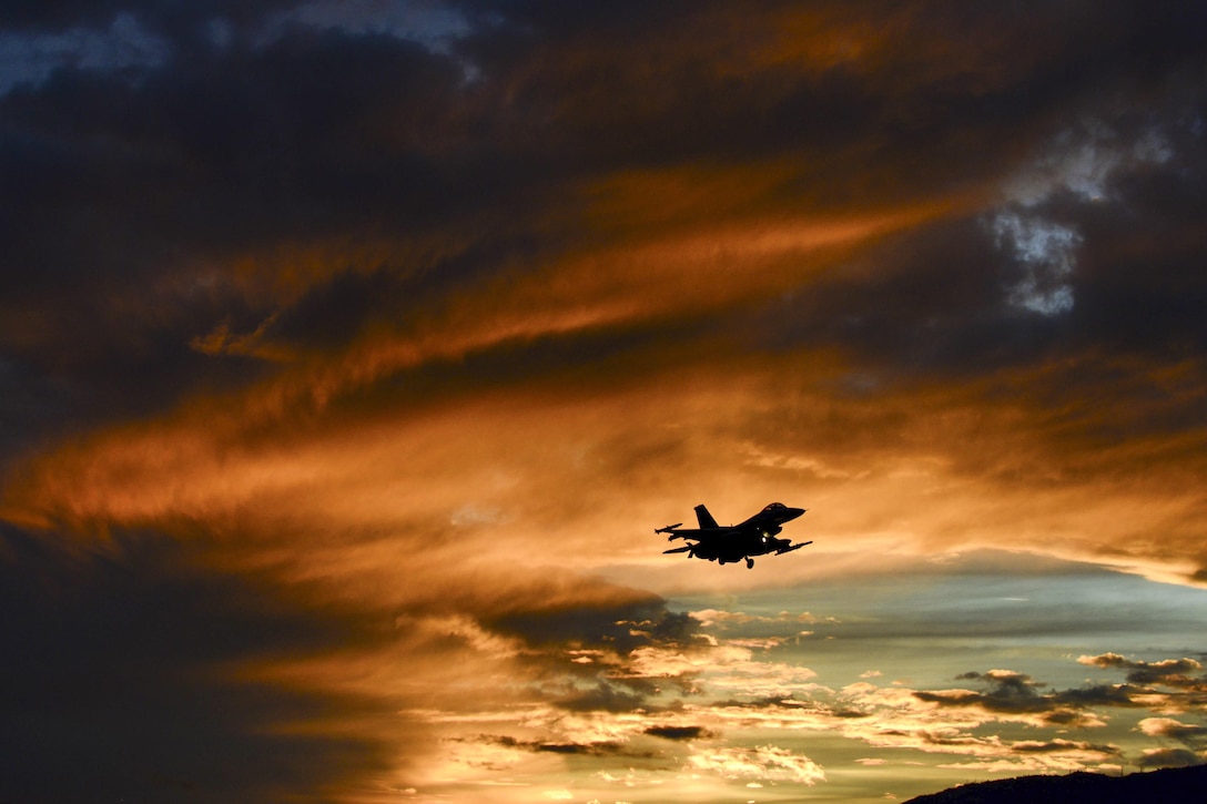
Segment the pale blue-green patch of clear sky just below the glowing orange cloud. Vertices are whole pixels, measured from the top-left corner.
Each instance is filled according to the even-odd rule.
[[[954,680],[963,672],[1009,669],[1069,688],[1089,676],[1123,681],[1121,674],[1078,664],[1083,654],[1153,662],[1207,651],[1205,589],[1077,563],[1007,559],[1001,570],[992,569],[989,552],[943,567],[919,563],[904,573],[683,596],[670,605],[751,616],[710,630],[729,639],[783,639],[774,659],[809,666],[830,687],[875,672],[881,684],[946,688],[960,686]],[[811,622],[798,619],[803,612]]]

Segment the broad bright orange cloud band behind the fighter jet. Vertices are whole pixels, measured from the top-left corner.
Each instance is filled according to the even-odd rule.
[[[842,557],[869,550],[1008,546],[1183,581],[1202,560],[1203,500],[1186,482],[1202,471],[1196,436],[1097,447],[1095,419],[1069,427],[1038,402],[989,402],[968,384],[835,400],[842,371],[828,355],[719,359],[608,391],[541,378],[408,403],[402,418],[337,406],[264,429],[208,401],[22,465],[6,515],[84,531],[193,523],[223,550],[262,549],[255,561],[311,578],[466,554],[583,571],[632,563],[690,583],[695,565],[667,564],[654,525],[696,502],[736,520],[780,497],[811,508],[799,526],[832,558],[765,561],[780,581],[851,571]]]

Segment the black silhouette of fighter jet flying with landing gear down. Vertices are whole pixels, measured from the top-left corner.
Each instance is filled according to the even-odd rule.
[[[683,538],[689,544],[675,547],[664,553],[687,553],[688,558],[702,558],[719,564],[737,563],[746,559],[746,569],[753,569],[756,555],[774,553],[782,555],[799,550],[812,541],[793,544],[791,538],[776,538],[783,530],[783,523],[791,522],[805,513],[805,508],[789,508],[782,502],[772,502],[739,525],[722,528],[704,506],[695,507],[695,518],[700,528],[681,528],[683,523],[654,529],[655,534],[670,534],[667,541]]]

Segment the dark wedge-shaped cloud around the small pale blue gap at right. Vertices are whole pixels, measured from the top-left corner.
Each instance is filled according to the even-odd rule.
[[[985,374],[1091,349],[1170,363],[1200,354],[1207,330],[1193,310],[1207,290],[1195,269],[1203,221],[1190,210],[1203,208],[1195,198],[1207,163],[1197,138],[1189,136],[1182,122],[1197,113],[1180,105],[1164,113],[1164,126],[1150,123],[1162,132],[1161,142],[1168,138],[1161,162],[1156,157],[1137,162],[1132,156],[1145,138],[1158,136],[1151,133],[1112,129],[1104,142],[1078,135],[1084,140],[1059,158],[1100,159],[1102,164],[1081,170],[1102,181],[1104,197],[1079,197],[1063,187],[1046,204],[1005,204],[997,212],[894,238],[864,258],[877,270],[835,274],[809,293],[760,310],[759,317],[776,322],[763,327],[765,337],[853,349],[870,366],[892,374]],[[1037,151],[1043,147],[1036,144]],[[1103,155],[1104,147],[1115,147],[1119,155]],[[1089,179],[1074,173],[1067,181]],[[1003,216],[1018,221],[1020,214],[1030,228],[1016,232],[1014,241],[995,234]],[[1059,239],[1061,233],[1071,238],[1067,244]],[[1057,262],[1067,269],[1059,278]],[[1036,270],[1045,272],[1046,279],[1040,278],[1049,282],[1045,292],[1056,286],[1067,292],[1068,309],[1062,314],[1014,303],[1020,281]],[[1109,390],[1112,379],[1100,378],[1096,388]],[[1201,394],[1201,367],[1184,381],[1191,394]],[[1073,383],[1059,390],[1069,398],[1088,391]],[[1118,407],[1138,401],[1120,400]],[[1183,427],[1190,424],[1185,414],[1176,420]]]

